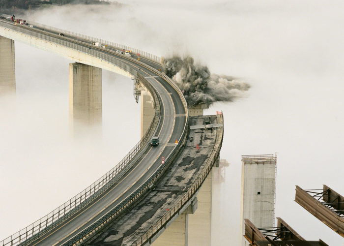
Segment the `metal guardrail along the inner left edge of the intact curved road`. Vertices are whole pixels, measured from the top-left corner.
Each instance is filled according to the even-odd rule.
[[[97,50],[90,50],[84,46],[70,43],[66,40],[61,40],[56,37],[48,36],[42,33],[38,33],[36,31],[31,31],[29,29],[23,29],[22,27],[17,27],[12,24],[2,22],[0,21],[0,26],[11,29],[14,31],[19,31],[24,34],[28,34],[31,36],[35,36],[41,39],[45,39],[51,42],[58,43],[60,45],[84,52],[86,54],[95,56],[97,58],[100,58],[107,62],[112,62],[116,66],[120,67],[124,71],[129,72],[130,74],[134,75],[141,83],[145,85],[145,87],[151,92],[155,103],[158,103],[158,95],[155,92],[155,89],[151,86],[151,84],[137,71],[130,65],[126,64],[125,62],[122,62],[115,57],[109,56],[107,54],[104,54]],[[160,112],[160,105],[156,105],[156,109]],[[159,116],[158,116],[159,115]],[[128,165],[129,163],[132,163],[132,161],[135,161],[135,157],[138,158],[139,151],[143,147],[147,147],[149,144],[149,140],[153,134],[155,134],[157,127],[153,127],[154,125],[158,125],[160,122],[160,114],[155,114],[146,134],[143,136],[143,138],[134,146],[134,148],[126,155],[124,158],[108,173],[103,175],[100,179],[98,179],[96,182],[88,186],[85,190],[71,198],[69,201],[65,202],[61,206],[59,206],[57,209],[49,213],[48,215],[40,218],[39,220],[33,222],[31,225],[27,226],[26,228],[20,230],[19,232],[9,236],[8,238],[4,239],[3,241],[0,241],[0,246],[9,246],[9,245],[17,245],[22,242],[25,242],[32,236],[36,235],[38,232],[43,231],[48,226],[52,227],[53,225],[59,224],[58,222],[61,222],[61,218],[65,215],[72,215],[75,214],[78,209],[81,209],[85,207],[87,204],[85,203],[86,199],[89,199],[90,197],[94,197],[96,195],[100,195],[102,192],[102,189],[107,188],[111,183],[114,183],[114,178],[117,177],[119,174],[122,174],[123,171],[129,169],[131,166]],[[78,207],[79,206],[79,207]],[[74,213],[72,213],[74,212]],[[69,214],[68,214],[69,213]],[[63,222],[63,221],[62,221]]]

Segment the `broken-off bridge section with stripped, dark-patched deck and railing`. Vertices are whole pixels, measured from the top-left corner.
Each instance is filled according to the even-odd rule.
[[[209,124],[215,127],[199,127]],[[164,177],[85,245],[150,245],[184,210],[196,209],[197,192],[219,157],[223,130],[222,114],[190,117],[185,147]]]

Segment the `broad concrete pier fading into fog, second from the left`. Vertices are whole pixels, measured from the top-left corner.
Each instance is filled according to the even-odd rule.
[[[77,62],[69,64],[69,112],[72,126],[101,125],[101,68]]]

